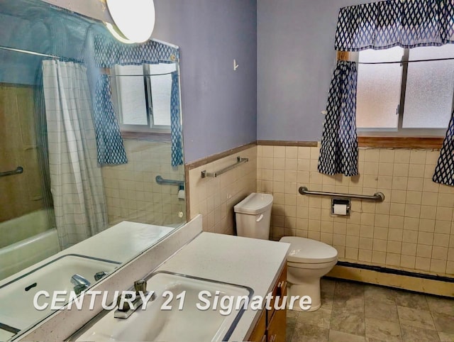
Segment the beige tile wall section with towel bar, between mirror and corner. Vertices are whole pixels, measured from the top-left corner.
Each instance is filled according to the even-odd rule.
[[[219,177],[201,178],[201,171],[215,172],[235,164],[236,158],[249,158]],[[189,212],[191,219],[203,216],[204,231],[233,235],[236,233],[233,206],[257,185],[257,147],[253,146],[228,157],[189,170]]]

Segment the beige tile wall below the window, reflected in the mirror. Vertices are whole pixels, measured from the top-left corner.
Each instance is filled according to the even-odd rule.
[[[186,202],[178,199],[178,187],[155,181],[157,175],[184,180],[184,166],[174,170],[170,165],[171,144],[147,140],[124,143],[128,164],[102,168],[109,224],[125,220],[157,225],[186,221]]]

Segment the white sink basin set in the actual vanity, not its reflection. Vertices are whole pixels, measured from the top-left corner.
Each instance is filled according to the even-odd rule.
[[[230,314],[221,314],[219,306],[213,309],[216,293],[219,304],[223,296],[233,296],[236,301],[239,296],[250,300],[253,295],[249,287],[170,272],[154,273],[147,281],[148,291],[154,291],[156,298],[147,303],[145,310],[138,308],[128,319],[116,319],[115,310],[108,311],[99,320],[94,319],[91,326],[82,328],[74,336],[76,341],[226,341],[244,309],[241,305],[236,310],[233,305]],[[199,298],[201,291],[212,294],[211,298],[204,297],[209,303]],[[173,294],[172,301],[167,302],[172,309],[165,310],[162,306],[169,299],[168,293]],[[184,300],[177,299],[182,293]],[[196,304],[209,309],[197,309]]]

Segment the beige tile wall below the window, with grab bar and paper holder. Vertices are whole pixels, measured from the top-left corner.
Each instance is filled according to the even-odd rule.
[[[432,182],[439,151],[360,148],[355,177],[316,171],[319,148],[258,145],[257,189],[272,193],[270,238],[301,236],[334,246],[340,260],[454,275],[454,187]],[[298,188],[383,192],[382,203],[352,201],[332,216],[331,198]]]

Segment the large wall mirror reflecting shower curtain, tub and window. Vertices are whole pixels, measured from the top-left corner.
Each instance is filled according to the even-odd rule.
[[[186,222],[186,202],[177,46],[123,45],[35,0],[0,1],[0,26],[1,302],[62,255],[108,274]],[[1,341],[33,324],[9,316],[0,304]]]

